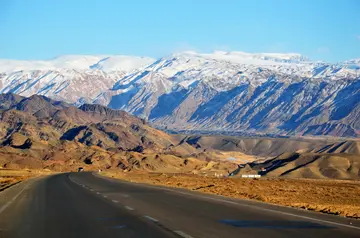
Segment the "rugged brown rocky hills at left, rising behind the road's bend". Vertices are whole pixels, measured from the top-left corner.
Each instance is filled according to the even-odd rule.
[[[143,119],[101,105],[77,108],[45,96],[0,95],[0,167],[230,171]]]

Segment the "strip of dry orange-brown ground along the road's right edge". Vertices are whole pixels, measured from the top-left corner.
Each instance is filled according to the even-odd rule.
[[[102,172],[127,181],[165,185],[360,219],[360,182],[313,179],[214,178],[184,174]]]

